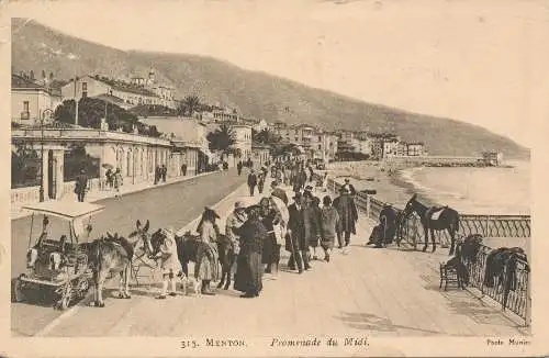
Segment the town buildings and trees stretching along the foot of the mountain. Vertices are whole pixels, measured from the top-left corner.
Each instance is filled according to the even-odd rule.
[[[183,167],[186,175],[197,175],[222,161],[264,165],[295,156],[317,168],[337,160],[436,166],[502,160],[500,153],[432,157],[424,143],[402,141],[395,133],[327,131],[283,118],[268,122],[202,103],[198,96],[176,99],[175,89],[159,83],[153,68],[126,79],[85,75],[59,80],[46,70],[13,72],[11,99],[12,188],[41,184],[40,197],[51,199],[67,192],[67,182],[82,166],[92,178],[103,178],[112,167],[136,183],[150,180],[159,167],[178,177]],[[37,199],[34,189],[25,198]]]

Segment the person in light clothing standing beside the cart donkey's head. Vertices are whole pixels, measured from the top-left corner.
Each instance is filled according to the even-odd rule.
[[[176,295],[176,277],[181,272],[181,264],[177,256],[177,244],[176,234],[173,227],[168,226],[163,228],[161,233],[165,235],[163,245],[160,246],[160,251],[158,257],[160,258],[160,269],[163,271],[163,292],[157,299],[166,299],[166,293],[168,291],[168,286],[170,287],[169,295]]]

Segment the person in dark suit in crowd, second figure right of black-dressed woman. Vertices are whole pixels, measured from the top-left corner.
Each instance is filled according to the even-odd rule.
[[[288,260],[288,268],[299,272],[303,272],[303,268],[309,270],[307,245],[305,243],[305,223],[303,217],[302,195],[300,192],[293,197],[293,204],[288,206],[290,219],[288,221],[288,233],[285,240],[285,249],[291,253]],[[296,266],[296,267],[295,267]]]

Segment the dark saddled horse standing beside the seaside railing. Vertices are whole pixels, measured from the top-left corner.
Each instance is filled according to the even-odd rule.
[[[435,231],[448,231],[450,234],[451,246],[450,254],[453,255],[456,247],[456,233],[459,230],[459,213],[448,206],[426,206],[417,201],[417,194],[413,194],[412,198],[404,206],[404,216],[410,216],[413,212],[419,215],[422,226],[425,233],[425,245],[423,251],[427,250],[427,245],[429,240],[433,243],[433,253],[437,249],[437,244],[435,243]],[[437,219],[433,217],[433,214],[438,214]]]

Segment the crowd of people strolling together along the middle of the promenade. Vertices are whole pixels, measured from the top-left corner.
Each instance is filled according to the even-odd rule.
[[[266,169],[259,172],[259,176],[267,176]],[[234,210],[226,217],[225,238],[231,242],[236,255],[232,273],[234,289],[243,293],[242,298],[260,294],[265,273],[270,273],[272,279],[278,278],[282,247],[290,254],[288,269],[303,273],[312,269],[314,260],[329,262],[336,238],[339,248],[350,244],[351,235],[357,233],[358,211],[349,187],[346,183],[334,200],[329,195],[321,200],[313,187],[307,184],[303,190],[293,191],[290,201],[285,190],[274,179],[270,192],[257,204],[246,205],[242,201],[234,204]],[[219,219],[212,209],[206,208],[198,228],[200,239],[208,244],[204,247],[211,251],[210,255],[197,255],[203,257],[195,266],[203,294],[214,294],[210,282],[216,280],[212,264],[215,262],[216,242],[221,237]],[[317,255],[320,248],[324,257]]]

